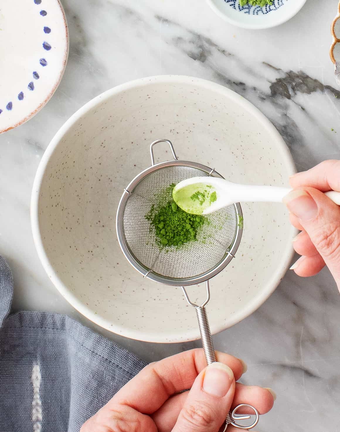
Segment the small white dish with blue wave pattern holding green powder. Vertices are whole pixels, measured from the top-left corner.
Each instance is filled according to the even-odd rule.
[[[221,18],[245,29],[269,29],[296,15],[306,0],[272,0],[266,6],[241,6],[240,0],[207,0]]]

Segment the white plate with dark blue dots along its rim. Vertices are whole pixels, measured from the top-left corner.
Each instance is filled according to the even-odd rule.
[[[32,118],[55,92],[68,56],[58,0],[0,2],[0,133]]]

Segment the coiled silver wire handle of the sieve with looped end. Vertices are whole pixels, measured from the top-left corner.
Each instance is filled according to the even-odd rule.
[[[210,332],[210,326],[209,326],[209,322],[208,322],[208,316],[207,316],[207,311],[205,309],[205,305],[208,303],[208,301],[210,300],[210,289],[209,289],[209,281],[206,281],[206,293],[207,293],[207,297],[205,299],[205,301],[202,303],[202,305],[196,305],[195,303],[192,303],[189,299],[189,296],[186,292],[186,289],[184,288],[184,286],[181,287],[184,297],[186,299],[186,301],[189,303],[190,306],[192,306],[193,308],[195,308],[196,310],[196,314],[197,314],[197,319],[199,322],[199,332],[201,334],[201,340],[202,340],[202,345],[203,345],[203,350],[204,350],[204,354],[205,354],[205,359],[207,361],[208,365],[211,365],[213,362],[216,362],[216,355],[215,355],[215,349],[214,349],[214,344],[212,343],[212,334]],[[239,424],[236,423],[236,420],[248,420],[250,419],[249,415],[239,415],[236,413],[237,410],[239,410],[240,408],[243,407],[247,407],[250,408],[254,411],[255,414],[255,420],[254,422],[250,425],[250,426],[241,426]],[[259,422],[259,412],[257,411],[257,409],[247,403],[241,403],[240,405],[237,405],[237,407],[234,408],[234,410],[229,411],[227,418],[225,419],[225,427],[224,429],[220,429],[221,432],[226,432],[228,425],[232,425],[237,429],[253,429],[257,423]]]

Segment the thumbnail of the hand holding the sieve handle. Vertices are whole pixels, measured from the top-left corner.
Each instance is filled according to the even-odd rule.
[[[223,363],[214,362],[205,370],[203,390],[213,396],[225,396],[233,379],[234,374],[231,368]]]

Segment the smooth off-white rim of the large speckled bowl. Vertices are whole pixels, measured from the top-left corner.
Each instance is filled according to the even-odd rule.
[[[71,115],[70,118],[60,127],[55,136],[52,138],[51,142],[48,144],[48,147],[45,150],[44,155],[38,165],[37,172],[35,174],[33,187],[32,187],[32,196],[31,196],[31,228],[32,235],[35,244],[35,248],[38,253],[38,257],[44,267],[46,273],[48,274],[49,279],[53,283],[53,285],[58,289],[60,294],[67,300],[80,314],[88,318],[93,323],[103,327],[106,330],[109,330],[115,334],[119,334],[131,339],[141,340],[145,342],[156,342],[156,343],[177,343],[177,342],[187,342],[192,340],[199,339],[199,327],[195,327],[192,329],[188,329],[188,331],[183,334],[178,332],[174,332],[173,334],[165,334],[163,335],[159,329],[155,329],[154,332],[145,332],[144,330],[139,329],[131,329],[126,328],[118,323],[113,323],[108,321],[105,318],[100,317],[100,315],[95,314],[94,311],[91,310],[90,307],[83,304],[74,294],[72,294],[71,290],[67,288],[67,286],[61,281],[58,277],[58,274],[55,272],[52,267],[48,256],[46,254],[45,248],[43,246],[42,236],[39,228],[39,215],[38,215],[38,207],[39,207],[39,196],[42,187],[42,180],[45,175],[46,168],[48,166],[48,162],[55,152],[58,144],[61,142],[64,134],[67,133],[73,127],[73,125],[83,116],[83,114],[87,113],[90,109],[96,107],[100,103],[108,100],[114,95],[120,94],[122,92],[126,92],[130,89],[148,86],[150,84],[177,84],[177,85],[196,85],[202,89],[210,90],[212,92],[219,93],[220,95],[224,95],[231,100],[234,100],[235,103],[239,104],[240,102],[247,109],[250,114],[252,114],[259,123],[265,127],[268,132],[276,139],[273,141],[276,142],[276,146],[281,153],[281,158],[285,163],[285,166],[288,167],[289,175],[293,175],[296,172],[295,164],[293,162],[292,156],[289,152],[288,147],[286,146],[283,138],[273,126],[273,124],[266,118],[266,116],[251,102],[245,99],[243,96],[238,93],[224,87],[220,84],[214,83],[212,81],[208,81],[202,78],[196,78],[193,76],[183,76],[183,75],[159,75],[159,76],[149,76],[146,78],[136,79],[133,81],[129,81],[128,83],[123,83],[118,86],[109,89],[95,98],[91,99],[81,108],[79,108],[74,114]],[[295,234],[296,230],[292,227],[291,234],[292,237]],[[243,308],[242,311],[238,313],[232,314],[227,317],[225,320],[221,320],[218,324],[211,324],[212,334],[216,334],[222,330],[226,330],[229,327],[237,324],[242,321],[244,318],[247,318],[250,314],[257,310],[268,297],[273,293],[276,287],[279,285],[282,280],[285,272],[288,270],[289,263],[293,257],[293,248],[292,244],[287,241],[287,245],[284,250],[281,251],[281,263],[277,270],[273,272],[273,276],[268,280],[266,285],[263,286],[261,292],[254,296],[252,301],[247,304],[247,307]],[[213,282],[212,282],[213,283]],[[179,299],[180,301],[180,299]],[[184,300],[183,300],[184,301]]]

